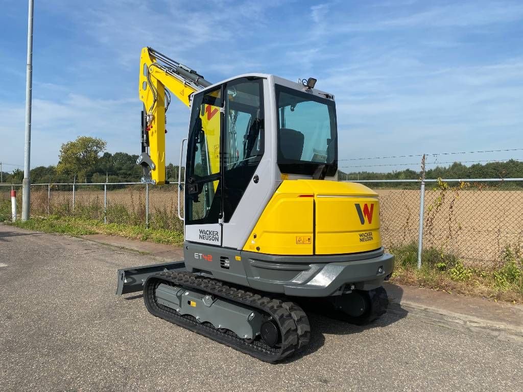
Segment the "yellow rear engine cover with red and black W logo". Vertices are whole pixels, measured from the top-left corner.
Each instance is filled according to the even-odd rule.
[[[243,250],[270,255],[339,255],[380,247],[376,192],[351,182],[284,180]]]

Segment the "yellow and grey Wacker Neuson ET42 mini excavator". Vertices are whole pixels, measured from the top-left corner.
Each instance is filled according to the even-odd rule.
[[[172,95],[190,108],[184,260],[118,270],[117,295],[143,291],[154,316],[270,363],[309,342],[308,304],[357,325],[385,313],[394,256],[381,245],[378,194],[337,181],[334,96],[315,83],[244,74],[212,84],[142,49],[142,182],[167,182]]]

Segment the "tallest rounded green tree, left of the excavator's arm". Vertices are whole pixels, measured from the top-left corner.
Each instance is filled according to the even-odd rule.
[[[106,149],[107,142],[97,137],[78,136],[75,141],[62,144],[56,172],[59,175],[76,175],[78,182],[93,174],[100,154]]]

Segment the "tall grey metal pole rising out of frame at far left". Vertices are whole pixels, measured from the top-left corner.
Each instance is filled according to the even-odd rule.
[[[32,26],[33,0],[29,0],[27,16],[27,70],[26,70],[26,134],[24,147],[24,180],[22,180],[22,221],[29,219],[30,195],[30,156],[31,156],[31,93],[32,93]]]

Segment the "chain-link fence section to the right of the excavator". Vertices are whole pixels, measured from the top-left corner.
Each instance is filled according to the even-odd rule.
[[[482,269],[502,266],[507,251],[523,251],[523,179],[425,180],[423,193],[421,180],[360,182],[379,194],[385,248],[421,240],[441,259]],[[420,255],[421,263],[434,256]]]

